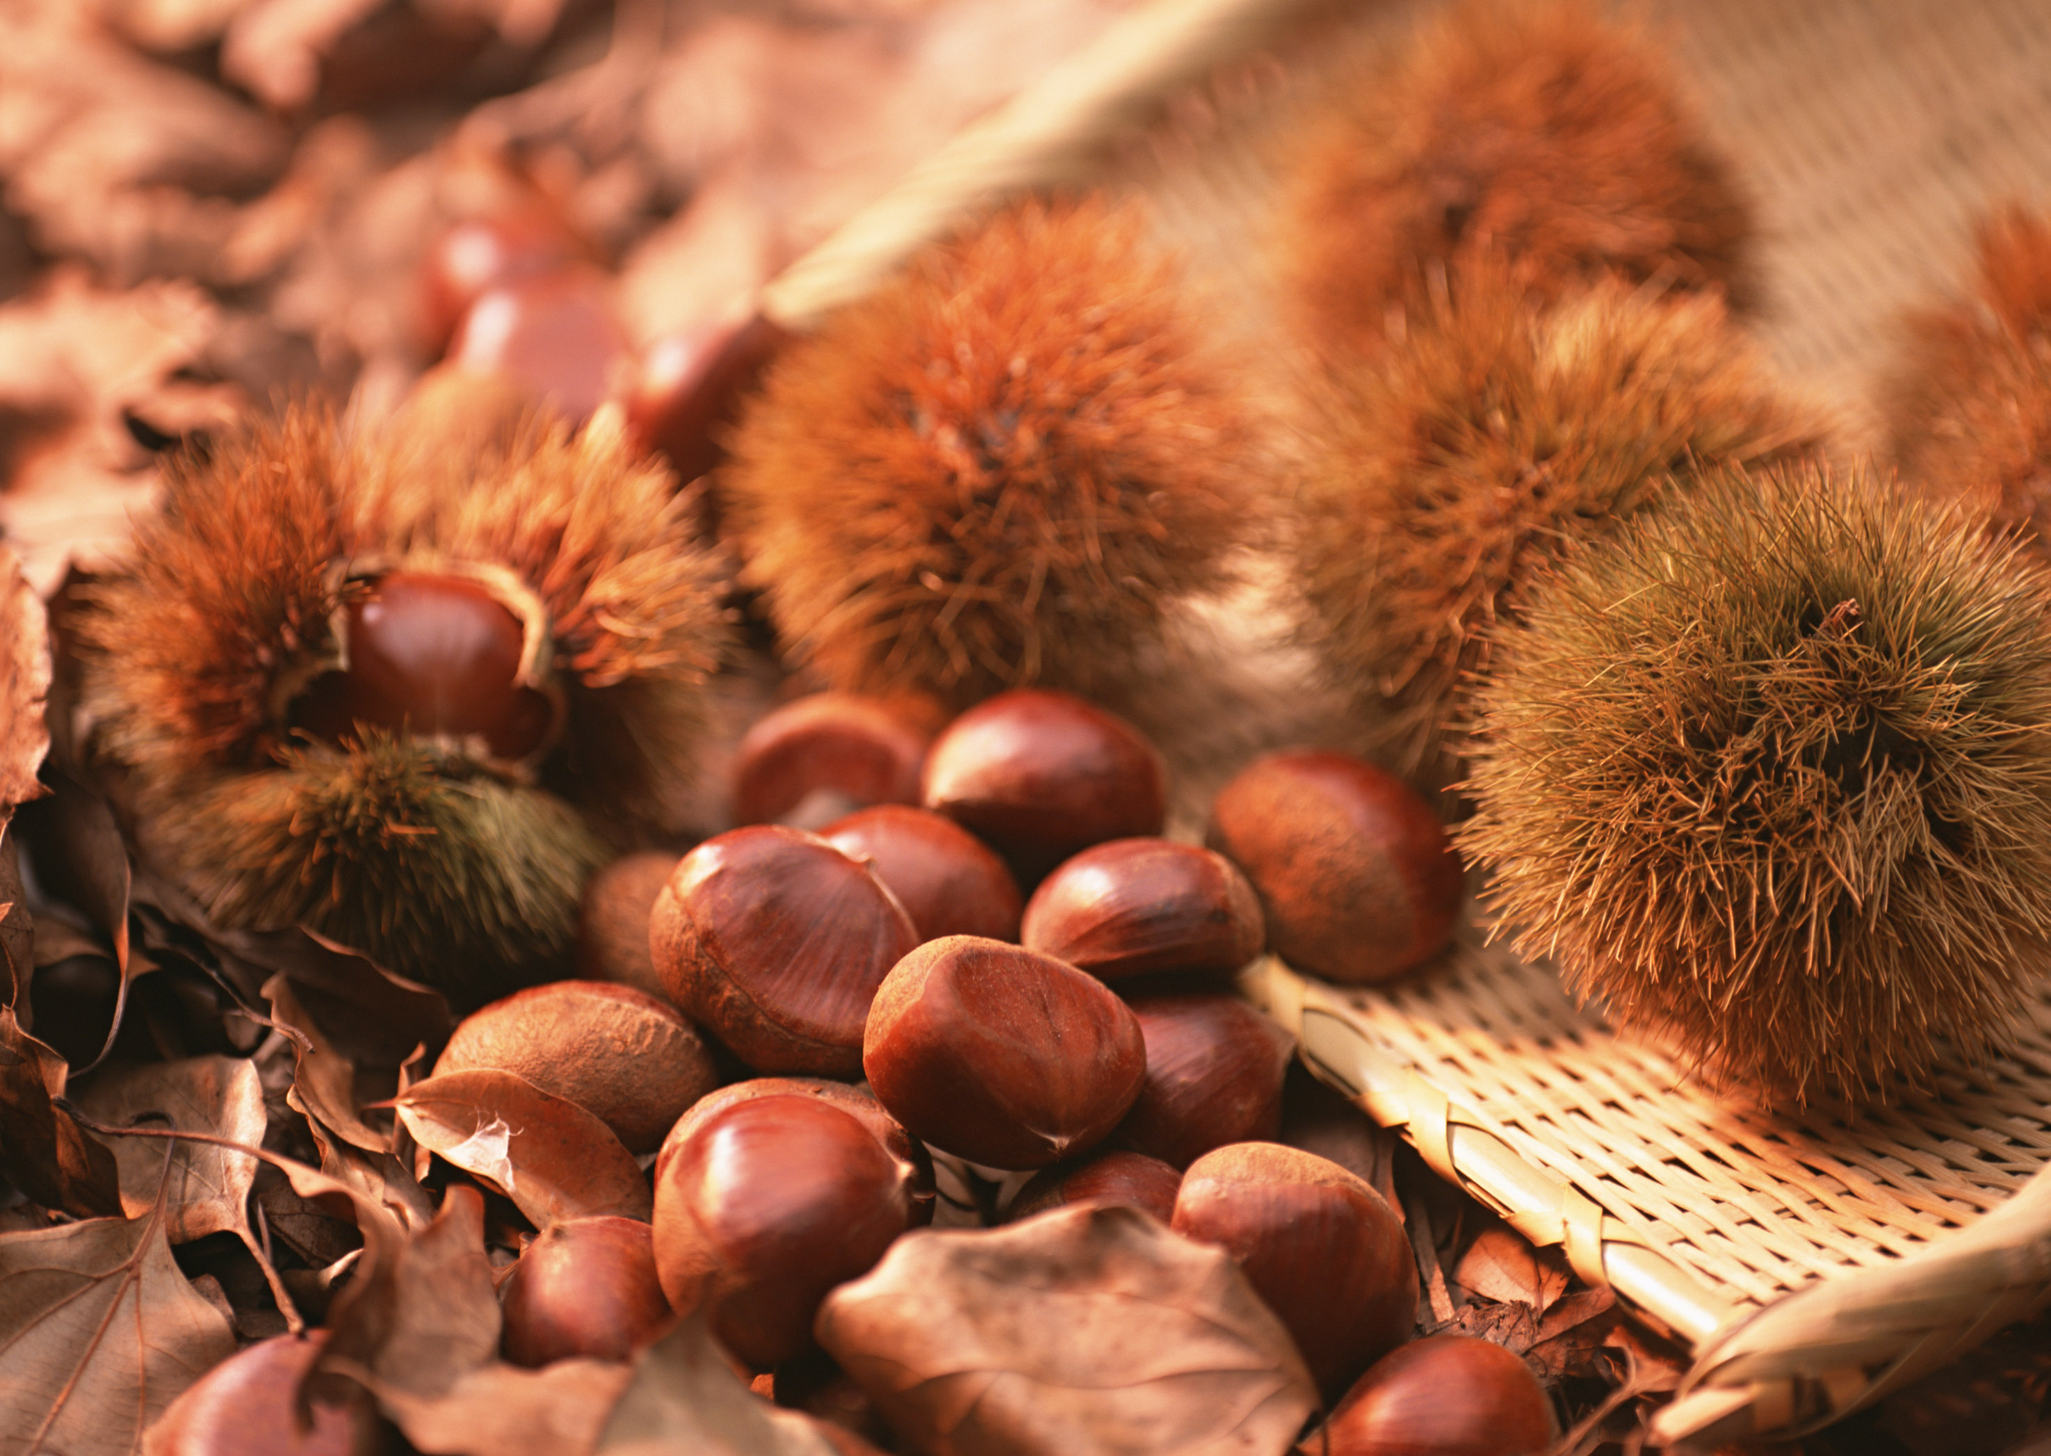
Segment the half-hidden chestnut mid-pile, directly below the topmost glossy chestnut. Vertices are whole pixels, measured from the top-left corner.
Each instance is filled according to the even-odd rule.
[[[1019,884],[1005,861],[952,818],[909,804],[876,804],[835,820],[818,837],[866,859],[898,898],[921,941],[941,935],[1019,935]]]

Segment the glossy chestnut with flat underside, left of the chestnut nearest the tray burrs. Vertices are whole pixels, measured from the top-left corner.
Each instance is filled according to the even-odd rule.
[[[1040,882],[1019,941],[1099,980],[1239,970],[1261,954],[1261,904],[1224,855],[1169,839],[1114,839]]]

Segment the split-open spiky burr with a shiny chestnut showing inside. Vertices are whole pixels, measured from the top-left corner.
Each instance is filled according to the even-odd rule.
[[[687,511],[603,424],[437,453],[293,408],[172,457],[78,630],[144,853],[464,1003],[554,968],[703,726],[728,628]]]

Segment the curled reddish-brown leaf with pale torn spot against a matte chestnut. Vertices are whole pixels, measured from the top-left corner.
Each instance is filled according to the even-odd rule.
[[[537,1226],[654,1212],[648,1179],[613,1130],[513,1073],[443,1073],[394,1103],[414,1140],[496,1185]]]

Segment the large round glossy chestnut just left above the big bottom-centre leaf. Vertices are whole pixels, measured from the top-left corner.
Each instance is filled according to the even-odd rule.
[[[833,1286],[868,1273],[907,1228],[907,1173],[818,1097],[745,1097],[683,1138],[654,1189],[654,1261],[673,1308],[701,1304],[742,1362],[812,1345]]]

